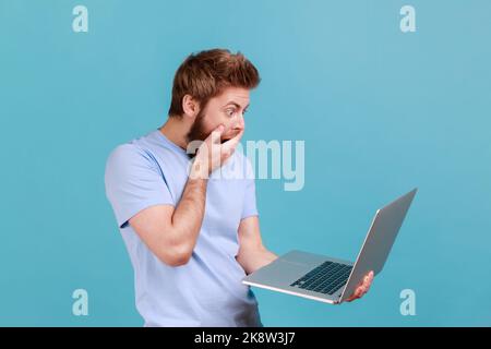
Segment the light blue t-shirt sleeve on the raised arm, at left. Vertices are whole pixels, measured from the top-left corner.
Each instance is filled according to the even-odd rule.
[[[175,205],[155,161],[133,144],[120,145],[109,155],[105,184],[120,228],[149,206]]]

